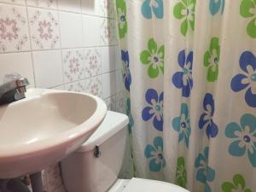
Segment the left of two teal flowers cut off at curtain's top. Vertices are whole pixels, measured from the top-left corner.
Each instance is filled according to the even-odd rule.
[[[152,12],[157,19],[162,19],[164,16],[163,0],[144,0],[142,5],[142,13],[146,19],[152,19]]]

